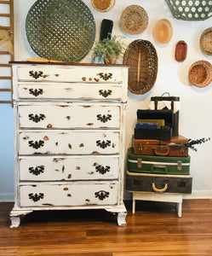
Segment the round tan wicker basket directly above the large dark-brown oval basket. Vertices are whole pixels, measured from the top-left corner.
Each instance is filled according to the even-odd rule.
[[[123,10],[120,22],[123,31],[131,35],[137,35],[146,29],[148,15],[140,5],[130,5]]]

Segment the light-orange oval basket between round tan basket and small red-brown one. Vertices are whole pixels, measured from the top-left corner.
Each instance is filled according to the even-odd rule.
[[[153,36],[159,44],[167,44],[172,38],[173,28],[169,20],[158,20],[153,27]]]

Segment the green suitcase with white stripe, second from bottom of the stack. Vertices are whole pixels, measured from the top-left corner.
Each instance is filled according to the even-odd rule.
[[[190,156],[155,156],[134,154],[128,150],[128,171],[152,174],[189,174]]]

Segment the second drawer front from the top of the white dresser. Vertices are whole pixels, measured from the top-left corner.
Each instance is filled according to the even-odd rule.
[[[68,84],[68,83],[20,83],[20,99],[77,99],[121,101],[122,84]]]

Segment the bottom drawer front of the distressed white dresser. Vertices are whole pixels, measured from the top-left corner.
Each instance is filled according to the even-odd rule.
[[[117,183],[66,183],[20,186],[20,207],[117,204]]]

